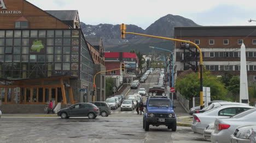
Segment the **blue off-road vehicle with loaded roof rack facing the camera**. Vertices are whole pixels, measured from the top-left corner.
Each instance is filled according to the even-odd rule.
[[[172,105],[170,98],[167,96],[149,96],[144,107],[146,107],[143,115],[145,131],[149,130],[149,125],[156,127],[165,125],[173,132],[176,131],[176,114],[173,111],[175,107]]]

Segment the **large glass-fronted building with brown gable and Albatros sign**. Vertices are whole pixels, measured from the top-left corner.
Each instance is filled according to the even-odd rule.
[[[91,101],[95,62],[78,11],[44,11],[25,0],[1,2],[1,107]]]

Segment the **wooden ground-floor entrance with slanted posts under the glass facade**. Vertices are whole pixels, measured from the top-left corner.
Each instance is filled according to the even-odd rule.
[[[77,103],[77,101],[73,100],[72,87],[68,86],[70,85],[69,79],[71,78],[73,77],[53,77],[24,80],[2,79],[0,80],[2,83],[8,83],[0,84],[1,96],[4,95],[2,104],[46,104],[46,102],[50,100],[55,101],[56,104],[58,102],[67,104],[66,92],[68,92],[70,103]],[[65,80],[65,83],[63,80]],[[44,84],[48,81],[59,82],[59,84]]]

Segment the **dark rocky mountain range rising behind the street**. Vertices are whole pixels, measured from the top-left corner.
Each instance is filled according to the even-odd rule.
[[[164,36],[173,38],[173,27],[177,26],[199,26],[192,20],[178,15],[168,14],[159,18],[151,24],[146,30],[136,25],[127,24],[126,32],[141,33],[155,36]],[[120,24],[98,24],[92,26],[81,22],[81,28],[86,37],[101,37],[105,51],[110,52],[130,52],[131,49],[141,51],[142,53],[149,53],[152,50],[149,46],[171,49],[173,42],[170,40],[149,38],[146,36],[139,36],[133,34],[126,34],[126,39],[120,38]],[[159,51],[154,49],[154,51]],[[164,52],[163,52],[164,53]]]

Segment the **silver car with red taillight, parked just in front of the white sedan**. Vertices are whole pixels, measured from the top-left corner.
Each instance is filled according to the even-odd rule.
[[[244,111],[238,115],[227,119],[216,119],[214,122],[214,132],[211,134],[212,142],[230,142],[230,135],[241,125],[254,125],[256,108]]]

